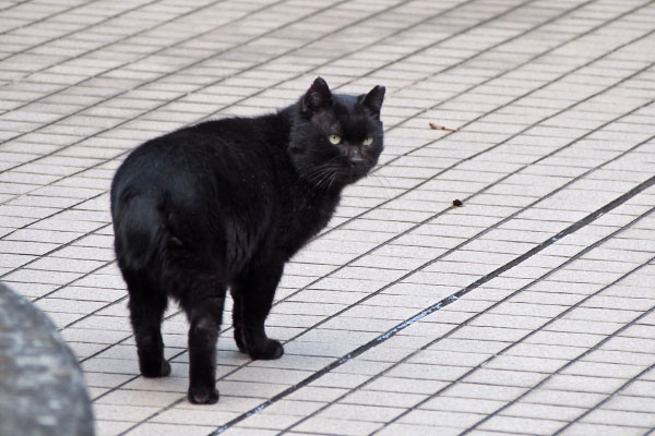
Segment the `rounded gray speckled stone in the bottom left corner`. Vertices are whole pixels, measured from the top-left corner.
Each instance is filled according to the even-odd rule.
[[[84,376],[52,322],[0,283],[0,435],[92,436]]]

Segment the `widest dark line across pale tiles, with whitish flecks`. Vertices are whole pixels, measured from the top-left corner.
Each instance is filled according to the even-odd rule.
[[[577,230],[580,230],[581,228],[590,225],[591,222],[595,221],[597,218],[599,218],[600,216],[611,211],[612,209],[615,209],[616,207],[622,205],[623,203],[628,202],[630,198],[634,197],[635,195],[638,195],[639,193],[643,192],[644,190],[653,186],[655,184],[655,177],[652,177],[650,179],[647,179],[646,181],[640,183],[639,185],[634,186],[632,190],[628,191],[627,193],[620,195],[619,197],[615,198],[614,201],[611,201],[610,203],[606,204],[605,206],[594,210],[593,213],[588,214],[587,216],[585,216],[584,218],[582,218],[581,220],[579,220],[577,222],[574,222],[573,225],[569,226],[568,228],[565,228],[564,230],[560,231],[559,233],[555,234],[553,237],[548,238],[547,240],[545,240],[544,242],[541,242],[539,245],[528,250],[527,252],[525,252],[524,254],[522,254],[521,256],[514,258],[513,261],[504,264],[503,266],[497,268],[496,270],[489,272],[488,275],[477,279],[476,281],[474,281],[473,283],[468,284],[466,288],[461,289],[460,291],[453,293],[452,295],[449,295],[444,299],[442,299],[441,301],[439,301],[436,304],[432,304],[431,306],[427,307],[426,310],[417,313],[416,315],[412,316],[410,318],[404,320],[403,323],[396,325],[395,327],[393,327],[392,329],[388,330],[386,332],[380,335],[379,337],[377,337],[376,339],[358,347],[357,349],[353,350],[352,352],[349,352],[348,354],[342,356],[341,359],[332,362],[331,364],[324,366],[321,371],[315,372],[314,374],[310,375],[309,377],[305,378],[303,380],[301,380],[300,383],[285,389],[284,391],[273,396],[271,399],[262,402],[260,405],[258,405],[254,409],[251,409],[250,411],[242,413],[241,415],[230,420],[229,422],[227,422],[226,424],[224,424],[223,426],[221,426],[219,428],[217,428],[216,431],[214,431],[213,433],[210,434],[210,436],[216,436],[219,435],[222,433],[224,433],[225,431],[227,431],[229,427],[231,427],[233,425],[246,420],[249,416],[252,416],[259,412],[261,412],[262,410],[266,409],[267,407],[270,407],[271,404],[279,401],[281,399],[289,396],[290,393],[294,393],[295,391],[297,391],[298,389],[309,385],[310,383],[319,379],[320,377],[322,377],[323,375],[330,373],[331,371],[333,371],[334,368],[352,361],[353,359],[357,358],[358,355],[362,354],[364,352],[372,349],[373,347],[379,346],[380,343],[386,341],[388,339],[394,337],[395,335],[397,335],[400,331],[404,330],[405,328],[412,326],[414,323],[425,318],[426,316],[432,314],[436,311],[439,311],[442,307],[448,306],[451,303],[454,303],[455,301],[457,301],[458,299],[461,299],[462,296],[464,296],[465,294],[467,294],[468,292],[479,288],[480,286],[485,284],[486,282],[492,280],[493,278],[500,276],[501,274],[505,272],[507,270],[515,267],[516,265],[525,262],[526,259],[531,258],[532,256],[534,256],[535,254],[541,252],[543,250],[549,247],[550,245],[552,245],[553,243],[556,243],[557,241],[559,241],[560,239],[576,232]]]

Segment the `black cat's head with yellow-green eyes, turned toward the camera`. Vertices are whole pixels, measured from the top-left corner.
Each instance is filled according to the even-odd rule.
[[[384,87],[368,94],[332,94],[318,77],[296,105],[289,153],[301,178],[341,189],[365,177],[384,147],[380,109]]]

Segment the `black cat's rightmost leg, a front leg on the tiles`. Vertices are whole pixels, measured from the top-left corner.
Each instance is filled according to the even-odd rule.
[[[279,359],[284,354],[282,343],[270,339],[264,328],[283,269],[284,264],[278,263],[250,268],[231,287],[235,341],[253,360]]]

